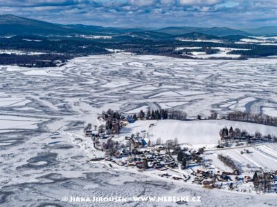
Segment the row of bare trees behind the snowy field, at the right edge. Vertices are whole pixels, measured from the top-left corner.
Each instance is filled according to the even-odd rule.
[[[230,112],[227,117],[227,120],[231,121],[244,121],[255,124],[264,124],[268,126],[277,126],[277,117],[269,117],[267,115],[258,115],[250,114],[248,112]]]

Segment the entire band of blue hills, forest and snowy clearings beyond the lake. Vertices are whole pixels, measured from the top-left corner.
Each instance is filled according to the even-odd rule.
[[[226,35],[215,35],[216,30]],[[226,28],[213,28],[213,34],[202,31],[204,33],[170,34],[162,30],[64,26],[0,15],[0,64],[60,66],[73,57],[105,55],[114,51],[188,59],[277,56],[277,39],[274,37],[249,37],[245,32],[235,33]]]

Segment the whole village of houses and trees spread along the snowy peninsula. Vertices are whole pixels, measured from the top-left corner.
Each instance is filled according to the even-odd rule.
[[[235,181],[244,183],[253,182],[255,178],[241,175],[237,168],[233,168],[233,172],[215,172],[214,168],[209,164],[207,159],[204,159],[204,148],[198,151],[187,148],[181,149],[178,145],[170,148],[169,144],[153,145],[148,139],[145,131],[138,132],[136,135],[124,137],[118,142],[114,139],[114,135],[119,134],[120,130],[127,124],[136,121],[133,116],[121,116],[117,112],[108,110],[103,112],[98,119],[101,121],[98,130],[96,127],[91,130],[91,126],[87,126],[85,135],[93,139],[93,144],[96,149],[105,151],[105,160],[111,161],[118,166],[130,168],[138,168],[138,170],[168,170],[166,173],[161,173],[159,176],[175,180],[188,181],[193,184],[199,184],[204,188],[222,188],[222,184],[228,184],[229,189],[233,190]],[[104,124],[105,123],[105,124]],[[151,127],[151,126],[150,126]],[[143,135],[144,136],[140,136]],[[243,141],[243,140],[265,140],[272,137],[262,136],[260,132],[255,135],[249,135],[245,130],[238,128],[223,128],[220,130],[222,141]],[[249,153],[247,150],[242,153]],[[199,166],[199,168],[189,168],[186,173],[181,175],[179,166],[186,168],[187,166]],[[188,173],[190,171],[190,174]],[[170,175],[168,172],[177,172],[177,175]],[[269,173],[269,172],[268,172]],[[270,172],[272,180],[277,180],[277,172]]]

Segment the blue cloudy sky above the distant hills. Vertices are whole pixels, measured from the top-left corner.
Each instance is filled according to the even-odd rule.
[[[277,26],[277,0],[0,0],[0,13],[125,28]]]

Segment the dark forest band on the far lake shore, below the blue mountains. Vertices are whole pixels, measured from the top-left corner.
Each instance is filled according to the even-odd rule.
[[[236,44],[231,40],[223,42],[193,42],[193,41],[177,41],[172,37],[159,37],[157,34],[152,34],[149,39],[143,39],[142,34],[136,37],[125,35],[114,36],[111,39],[89,39],[84,37],[42,37],[35,35],[17,35],[10,38],[0,38],[1,50],[21,50],[32,52],[46,52],[70,55],[70,57],[78,57],[85,55],[103,55],[110,52],[106,48],[125,50],[126,52],[133,52],[137,55],[162,55],[177,58],[190,58],[184,55],[189,52],[206,52],[206,54],[214,54],[219,52],[215,47],[224,48],[242,48],[249,50],[233,50],[229,54],[242,55],[239,59],[246,59],[247,57],[267,57],[277,55],[277,46],[262,46],[255,44]],[[25,40],[24,40],[25,39]],[[26,41],[28,39],[28,41]],[[33,40],[33,41],[32,41]],[[199,49],[184,49],[176,50],[177,47],[201,47]],[[19,64],[24,61],[26,57],[18,57],[19,61],[3,60],[4,64],[9,62]],[[67,59],[67,58],[66,58]],[[212,58],[211,58],[212,59]],[[215,59],[215,57],[214,57]],[[232,59],[232,58],[220,58]],[[28,63],[33,60],[30,58]],[[5,63],[6,62],[6,63]],[[39,66],[54,66],[53,61],[50,63],[42,63],[42,61],[33,61],[30,64],[37,64]],[[22,63],[27,64],[27,63]]]

